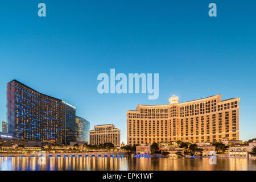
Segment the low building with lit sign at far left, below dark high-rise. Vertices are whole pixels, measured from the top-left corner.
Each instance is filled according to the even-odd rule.
[[[14,145],[23,145],[27,147],[27,140],[13,137],[13,134],[0,132],[0,147],[11,147]]]

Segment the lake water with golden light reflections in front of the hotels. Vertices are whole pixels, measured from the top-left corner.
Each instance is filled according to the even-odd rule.
[[[256,160],[217,159],[217,164],[209,164],[207,158],[98,158],[98,157],[52,157],[46,164],[39,164],[39,158],[0,158],[0,171],[89,171],[89,170],[142,170],[142,171],[204,171],[204,170],[253,170]]]

